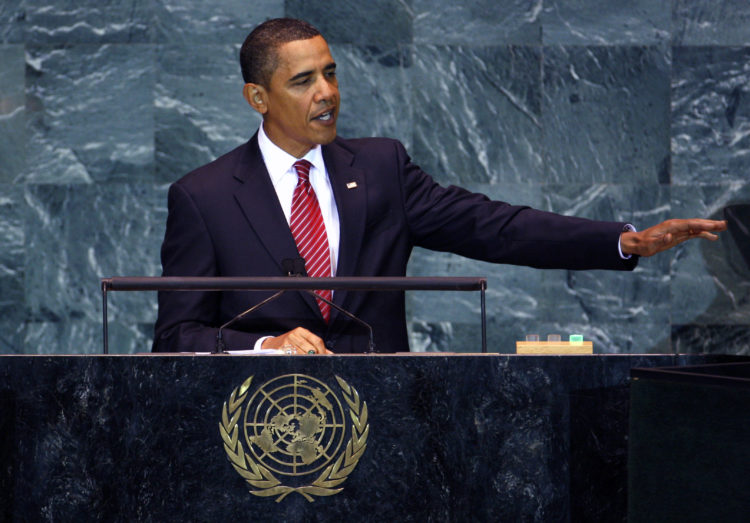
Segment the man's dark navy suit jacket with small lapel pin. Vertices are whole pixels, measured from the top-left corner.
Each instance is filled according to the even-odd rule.
[[[480,260],[564,269],[632,269],[617,252],[622,223],[563,217],[442,187],[384,138],[323,146],[341,223],[338,276],[404,276],[412,248]],[[347,184],[356,182],[355,188]],[[257,135],[174,183],[162,245],[164,276],[284,276],[294,239],[266,171]],[[162,292],[154,351],[208,351],[217,327],[266,292]],[[334,301],[375,331],[381,352],[408,351],[402,292],[336,291]],[[287,292],[225,331],[228,348],[302,326],[334,352],[363,352],[364,329],[313,298]]]

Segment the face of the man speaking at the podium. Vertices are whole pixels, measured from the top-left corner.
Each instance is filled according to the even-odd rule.
[[[322,36],[282,44],[278,56],[279,65],[263,90],[263,129],[273,143],[301,158],[336,138],[336,63]]]

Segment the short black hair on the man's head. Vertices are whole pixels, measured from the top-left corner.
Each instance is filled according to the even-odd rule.
[[[278,48],[285,43],[320,35],[311,24],[296,18],[272,18],[253,29],[240,49],[240,67],[245,83],[268,88],[279,65]]]

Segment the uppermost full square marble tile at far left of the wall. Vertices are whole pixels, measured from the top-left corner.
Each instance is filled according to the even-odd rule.
[[[151,45],[27,49],[27,183],[150,181]]]

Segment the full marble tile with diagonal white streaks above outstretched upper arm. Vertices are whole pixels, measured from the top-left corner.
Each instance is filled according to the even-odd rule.
[[[541,56],[532,47],[418,46],[412,157],[436,180],[539,180]]]

